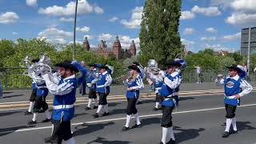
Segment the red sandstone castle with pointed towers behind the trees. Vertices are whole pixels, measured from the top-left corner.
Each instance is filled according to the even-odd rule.
[[[118,39],[118,36],[114,40],[114,44],[112,48],[106,46],[106,41],[101,41],[98,45],[98,48],[90,48],[90,44],[88,42],[88,39],[85,38],[84,42],[82,44],[85,50],[94,51],[96,54],[101,54],[105,58],[108,58],[110,55],[113,55],[116,59],[122,59],[122,58],[131,58],[136,56],[136,46],[134,43],[134,40],[130,43],[130,48],[127,50],[122,49],[121,43]]]

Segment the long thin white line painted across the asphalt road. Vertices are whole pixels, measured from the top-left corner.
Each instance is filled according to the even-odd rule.
[[[238,106],[238,107],[246,107],[246,106],[256,106],[256,103],[248,104],[248,105],[242,105],[242,106]],[[174,112],[173,114],[187,114],[187,113],[210,111],[210,110],[221,110],[221,109],[225,109],[225,107],[215,107],[215,108],[200,109],[200,110],[186,110],[186,111]],[[148,115],[141,115],[140,118],[147,118],[147,117],[154,117],[154,116],[161,116],[161,115],[162,114],[148,114]],[[99,123],[99,122],[113,122],[113,121],[124,120],[124,119],[126,119],[126,118],[111,118],[111,119],[90,121],[90,122],[78,122],[78,123],[73,123],[72,126],[78,126],[78,125],[82,125],[82,124]],[[44,126],[44,127],[27,128],[27,129],[13,130],[13,131],[10,130],[10,131],[5,131],[5,132],[0,132],[0,134],[30,131],[30,130],[43,130],[43,129],[50,129],[50,128],[51,128],[51,126]]]

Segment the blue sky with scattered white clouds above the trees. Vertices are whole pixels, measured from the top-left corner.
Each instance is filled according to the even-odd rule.
[[[79,0],[77,41],[87,36],[91,46],[101,39],[112,46],[139,46],[144,0]],[[180,35],[187,50],[239,50],[240,31],[256,26],[254,0],[183,0]],[[74,1],[0,0],[0,38],[46,38],[53,43],[73,38]]]

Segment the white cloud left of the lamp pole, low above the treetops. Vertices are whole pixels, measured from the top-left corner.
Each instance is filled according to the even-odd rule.
[[[46,38],[72,38],[73,33],[58,30],[56,27],[48,27],[46,30],[42,30],[38,33],[38,37],[46,37]]]

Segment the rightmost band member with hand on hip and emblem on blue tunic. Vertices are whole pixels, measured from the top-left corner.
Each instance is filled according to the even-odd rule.
[[[240,105],[240,98],[249,94],[253,89],[244,77],[244,71],[239,66],[227,66],[229,75],[226,78],[219,78],[218,81],[224,86],[224,103],[226,108],[226,130],[222,134],[222,138],[227,138],[230,134],[237,133],[235,110]],[[222,76],[222,75],[218,75]],[[230,130],[230,126],[233,130]]]

